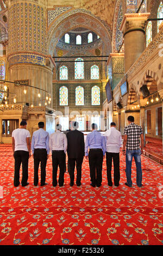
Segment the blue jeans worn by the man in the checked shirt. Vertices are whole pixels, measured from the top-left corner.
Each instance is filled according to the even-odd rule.
[[[142,169],[141,169],[141,150],[126,150],[126,177],[127,177],[127,183],[128,186],[132,186],[132,180],[131,180],[131,166],[132,166],[132,160],[134,160],[136,163],[136,184],[137,186],[142,186]]]

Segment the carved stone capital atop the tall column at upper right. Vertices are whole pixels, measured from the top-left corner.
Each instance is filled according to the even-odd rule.
[[[145,33],[145,22],[151,13],[130,13],[124,14],[120,30],[123,36],[131,31],[142,31]]]

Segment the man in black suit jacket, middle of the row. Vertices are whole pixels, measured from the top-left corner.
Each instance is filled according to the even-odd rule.
[[[74,184],[74,168],[77,168],[77,186],[81,185],[82,178],[82,163],[85,155],[84,149],[84,134],[78,131],[78,122],[72,122],[71,131],[67,133],[67,154],[69,163],[70,173],[70,186]]]

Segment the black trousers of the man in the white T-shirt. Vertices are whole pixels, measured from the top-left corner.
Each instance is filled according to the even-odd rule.
[[[29,152],[24,150],[17,150],[14,152],[15,159],[15,172],[14,172],[14,186],[17,187],[20,184],[20,167],[22,163],[22,186],[27,184],[28,180],[28,160]]]

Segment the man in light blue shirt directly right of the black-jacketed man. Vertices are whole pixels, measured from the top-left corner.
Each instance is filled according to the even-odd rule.
[[[88,154],[88,149],[89,154]],[[106,151],[106,139],[97,131],[97,124],[92,124],[92,132],[86,136],[85,158],[89,158],[91,186],[100,187],[102,183],[103,156]]]

